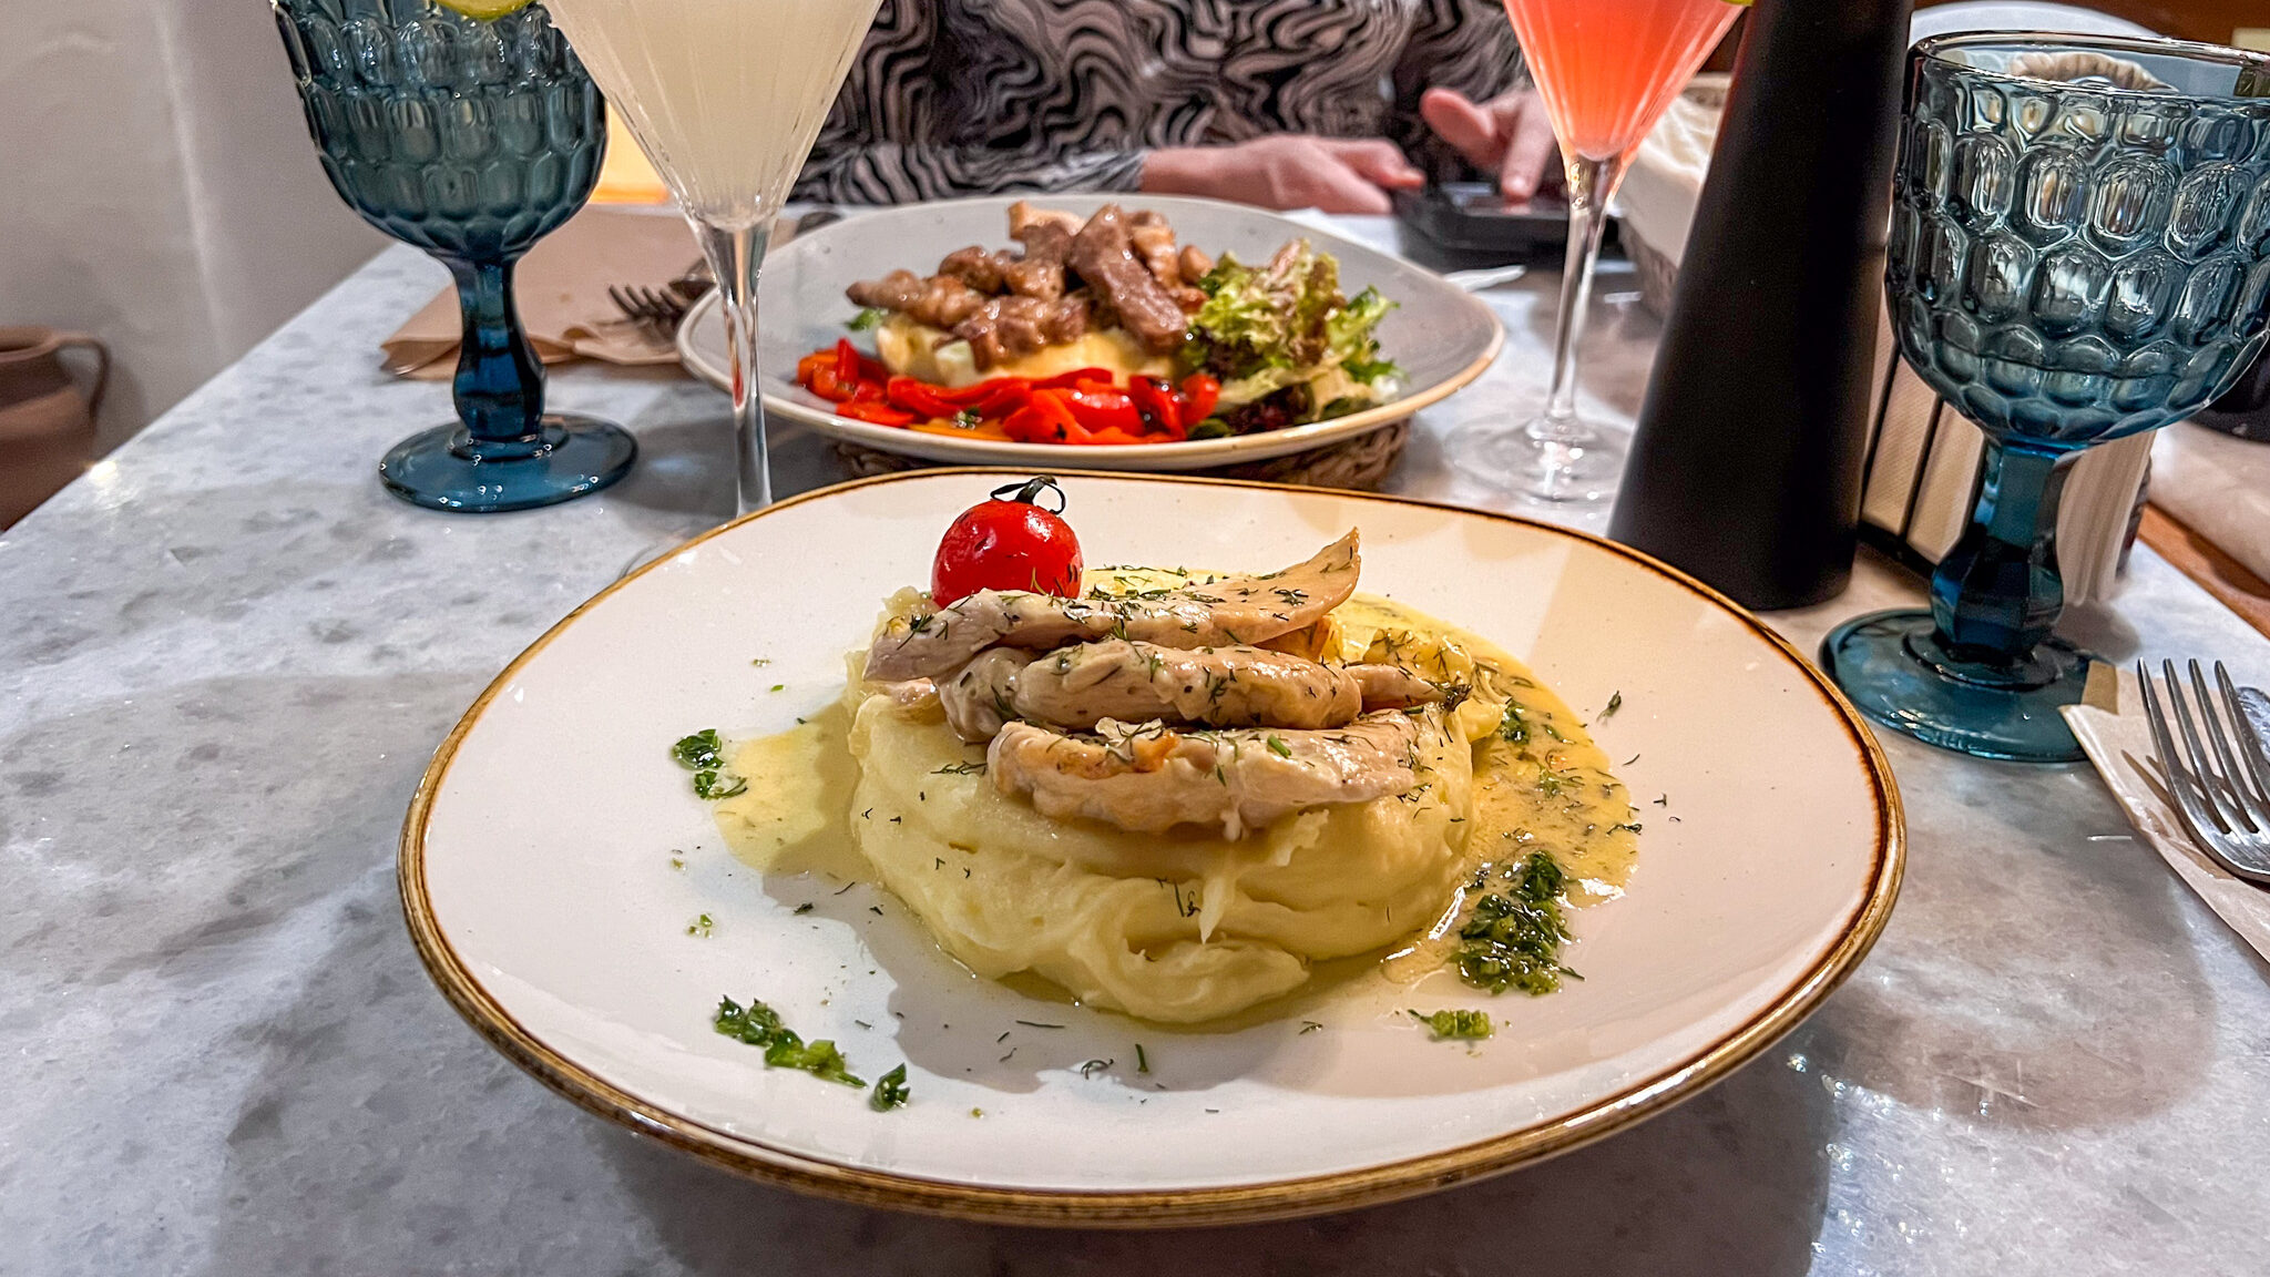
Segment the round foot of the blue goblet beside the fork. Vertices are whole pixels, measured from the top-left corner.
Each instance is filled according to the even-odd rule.
[[[1821,668],[1868,718],[1941,750],[2020,763],[2082,759],[2057,707],[2082,700],[2088,654],[2050,638],[2016,666],[1961,661],[1930,611],[1875,611],[1821,641]]]

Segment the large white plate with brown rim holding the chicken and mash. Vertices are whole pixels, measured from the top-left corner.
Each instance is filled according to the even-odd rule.
[[[1503,643],[1580,713],[1623,693],[1598,738],[1637,754],[1619,770],[1646,834],[1630,893],[1573,920],[1584,979],[1537,1000],[1437,991],[1500,1020],[1473,1052],[1428,1041],[1378,977],[1169,1032],[981,982],[874,886],[745,868],[670,743],[835,700],[878,602],[926,579],[940,529],[1001,477],[894,475],[742,518],[490,684],[402,834],[411,932],[488,1041],[597,1113],[808,1191],[1026,1222],[1264,1218],[1423,1193],[1655,1113],[1793,1027],[1882,929],[1902,863],[1891,770],[1805,659],[1705,586],[1507,516],[1137,475],[1065,482],[1090,561],[1269,568],[1360,525],[1364,589]],[[708,938],[686,934],[699,913]],[[869,1077],[908,1061],[913,1104],[874,1113],[767,1070],[711,1029],[724,993]]]

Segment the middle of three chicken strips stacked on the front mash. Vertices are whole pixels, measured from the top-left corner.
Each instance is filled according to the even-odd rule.
[[[1105,718],[1342,727],[1367,709],[1439,702],[1441,691],[1396,666],[1319,666],[1262,648],[1160,648],[1105,638],[1040,659],[987,648],[940,688],[940,698],[965,741],[990,741],[1012,718],[1078,732]]]

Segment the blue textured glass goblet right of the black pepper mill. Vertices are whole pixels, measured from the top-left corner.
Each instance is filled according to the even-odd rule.
[[[2206,407],[2270,339],[2270,57],[1939,36],[1907,68],[1886,259],[1900,354],[1986,432],[1930,611],[1834,629],[1861,713],[1989,759],[2070,761],[2088,657],[2057,498],[2086,448]]]

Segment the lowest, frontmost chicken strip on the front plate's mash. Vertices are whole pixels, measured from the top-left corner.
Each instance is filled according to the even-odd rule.
[[[1394,709],[1323,732],[1174,732],[1103,720],[1101,738],[1078,738],[1010,723],[985,759],[994,788],[1031,795],[1042,816],[1101,820],[1130,834],[1212,825],[1242,838],[1303,807],[1410,793],[1419,784],[1421,727]]]

